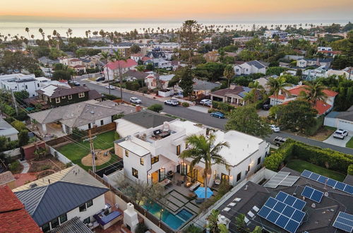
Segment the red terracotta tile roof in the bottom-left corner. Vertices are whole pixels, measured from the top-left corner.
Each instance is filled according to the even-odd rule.
[[[42,232],[8,186],[0,187],[0,233]]]

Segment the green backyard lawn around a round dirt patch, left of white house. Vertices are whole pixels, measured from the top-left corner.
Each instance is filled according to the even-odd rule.
[[[109,131],[106,133],[101,133],[97,135],[97,138],[93,140],[93,144],[95,145],[95,150],[97,149],[108,149],[114,147],[114,131]],[[90,153],[90,143],[88,141],[81,141],[80,144],[78,145],[77,143],[70,143],[61,146],[60,148],[57,149],[59,153],[65,155],[68,157],[69,160],[71,160],[74,164],[79,165],[80,167],[83,167],[83,169],[88,170],[91,169],[92,167],[86,167],[83,166],[81,163],[81,159],[88,155]],[[109,160],[109,162],[105,163],[104,165],[97,166],[96,169],[101,169],[103,167],[106,167],[107,164],[113,163],[116,160],[118,160],[117,156],[112,156],[112,158]]]

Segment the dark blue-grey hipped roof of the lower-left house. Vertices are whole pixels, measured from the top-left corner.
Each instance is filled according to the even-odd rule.
[[[56,181],[47,186],[19,191],[15,194],[35,222],[42,226],[108,190],[96,186]]]

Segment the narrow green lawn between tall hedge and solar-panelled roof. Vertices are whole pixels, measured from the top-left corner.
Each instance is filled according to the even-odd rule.
[[[298,172],[303,172],[304,169],[307,169],[311,172],[321,174],[325,177],[330,177],[331,179],[335,179],[337,181],[343,181],[346,177],[345,174],[335,172],[333,170],[325,169],[323,167],[319,167],[318,165],[313,165],[310,162],[306,162],[303,160],[290,160],[287,163],[287,167],[289,167],[290,169],[294,169]]]

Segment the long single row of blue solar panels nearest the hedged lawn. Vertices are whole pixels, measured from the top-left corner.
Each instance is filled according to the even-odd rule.
[[[331,179],[328,177],[321,176],[320,174],[316,174],[315,172],[304,170],[301,173],[301,177],[305,177],[313,181],[318,181],[321,184],[326,184],[327,186],[330,186],[333,189],[338,189],[340,191],[344,191],[345,193],[349,193],[351,195],[353,194],[353,186],[342,183],[340,181],[335,181],[334,179]]]

